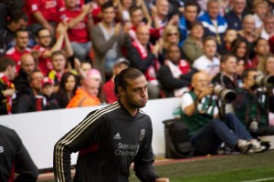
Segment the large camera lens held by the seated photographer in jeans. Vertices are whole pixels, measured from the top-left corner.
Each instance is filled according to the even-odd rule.
[[[214,94],[223,102],[230,103],[237,97],[236,92],[221,85],[214,86]]]

